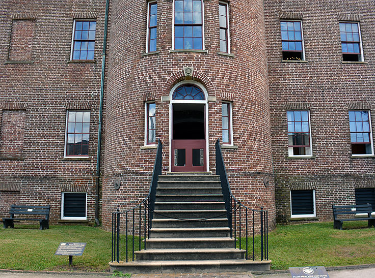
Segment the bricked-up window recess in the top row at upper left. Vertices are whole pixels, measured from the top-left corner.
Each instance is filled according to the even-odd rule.
[[[12,23],[9,60],[31,60],[35,20],[15,19]]]

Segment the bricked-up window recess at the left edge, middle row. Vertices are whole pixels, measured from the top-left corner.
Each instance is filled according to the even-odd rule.
[[[0,157],[22,157],[24,126],[24,110],[3,110],[0,126]]]

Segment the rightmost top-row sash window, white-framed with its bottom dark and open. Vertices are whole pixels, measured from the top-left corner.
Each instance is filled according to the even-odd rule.
[[[343,61],[363,61],[359,22],[340,22]]]

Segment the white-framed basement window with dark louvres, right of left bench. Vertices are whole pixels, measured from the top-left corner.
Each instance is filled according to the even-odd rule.
[[[61,193],[61,219],[87,220],[87,193]]]

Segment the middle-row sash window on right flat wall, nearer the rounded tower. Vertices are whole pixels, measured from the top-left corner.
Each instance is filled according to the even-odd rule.
[[[309,110],[287,111],[288,156],[312,156]]]

